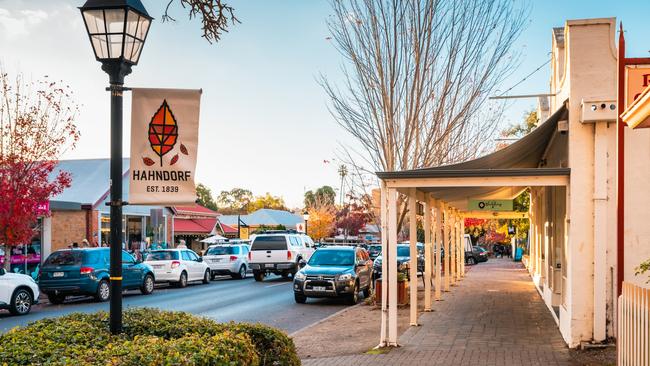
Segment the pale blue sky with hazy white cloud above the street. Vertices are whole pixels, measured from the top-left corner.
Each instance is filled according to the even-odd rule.
[[[522,4],[522,0],[514,0]],[[197,182],[218,194],[234,187],[282,196],[302,205],[306,190],[339,186],[337,156],[355,141],[336,124],[320,75],[340,81],[342,57],[327,38],[326,0],[230,0],[241,24],[215,44],[201,38],[200,23],[172,6],[176,22],[161,22],[166,1],[143,0],[155,18],[142,57],[125,85],[201,88]],[[628,56],[650,56],[650,1],[528,0],[529,22],[514,45],[517,70],[507,90],[549,58],[551,30],[567,19],[616,17],[626,29]],[[81,104],[81,140],[64,159],[109,156],[107,75],[94,60],[77,9],[83,1],[0,0],[0,64],[12,75],[63,80]],[[549,66],[510,94],[547,93]],[[125,96],[125,132],[130,131]],[[509,104],[503,126],[518,123],[534,99]],[[494,136],[497,137],[497,136]],[[129,152],[125,133],[124,153]],[[327,162],[326,162],[327,161]]]

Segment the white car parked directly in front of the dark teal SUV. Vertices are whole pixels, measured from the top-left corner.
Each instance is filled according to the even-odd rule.
[[[163,249],[147,253],[144,261],[153,268],[156,282],[167,282],[178,287],[188,282],[210,282],[210,266],[190,249]]]

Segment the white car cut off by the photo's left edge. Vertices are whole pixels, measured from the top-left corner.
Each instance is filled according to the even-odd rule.
[[[38,303],[38,285],[31,276],[6,272],[0,268],[0,309],[25,315]]]

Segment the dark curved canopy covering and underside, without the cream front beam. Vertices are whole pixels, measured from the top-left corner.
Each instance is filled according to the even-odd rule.
[[[396,172],[378,172],[383,180],[409,178],[463,178],[463,177],[516,177],[535,175],[566,175],[568,168],[549,167],[545,154],[554,136],[559,135],[558,122],[568,119],[566,104],[563,104],[546,121],[539,124],[528,135],[509,146],[491,154],[462,163]],[[467,201],[480,199],[512,199],[526,187],[449,187],[418,188],[433,197],[450,203],[459,209],[466,209]]]

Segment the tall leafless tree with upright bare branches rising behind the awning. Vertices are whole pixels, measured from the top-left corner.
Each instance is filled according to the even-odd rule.
[[[510,0],[331,4],[328,25],[346,60],[345,81],[339,87],[322,77],[321,85],[336,121],[360,146],[347,149],[350,163],[396,171],[484,151],[503,110],[488,95],[516,66],[523,8]]]

